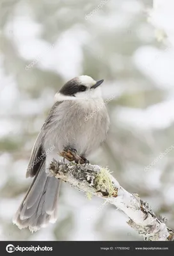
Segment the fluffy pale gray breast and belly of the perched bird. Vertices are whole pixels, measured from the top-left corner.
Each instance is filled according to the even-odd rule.
[[[93,117],[89,118],[91,113]],[[52,114],[44,146],[54,145],[57,152],[72,147],[79,155],[87,157],[106,139],[108,129],[109,116],[102,99],[65,100]]]

